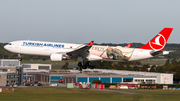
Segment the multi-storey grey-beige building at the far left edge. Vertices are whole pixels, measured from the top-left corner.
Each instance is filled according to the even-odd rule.
[[[23,68],[18,60],[0,60],[0,86],[21,85],[23,82]]]

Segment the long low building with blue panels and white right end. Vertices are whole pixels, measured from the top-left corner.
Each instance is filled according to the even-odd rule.
[[[122,70],[86,69],[82,73],[77,70],[54,70],[54,71],[24,71],[26,80],[35,80],[42,83],[89,82],[101,80],[102,83],[136,83],[136,84],[173,84],[173,74],[134,72]]]

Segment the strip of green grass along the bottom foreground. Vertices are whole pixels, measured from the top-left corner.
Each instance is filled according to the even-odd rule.
[[[143,93],[126,95],[63,87],[27,87],[14,88],[15,92],[0,93],[1,101],[178,101],[180,91],[170,90],[121,90]]]

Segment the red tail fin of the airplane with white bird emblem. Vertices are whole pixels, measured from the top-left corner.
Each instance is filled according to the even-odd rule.
[[[173,28],[164,28],[150,42],[148,42],[146,45],[142,47],[139,47],[138,49],[147,49],[147,50],[156,50],[156,51],[163,50],[172,30]]]

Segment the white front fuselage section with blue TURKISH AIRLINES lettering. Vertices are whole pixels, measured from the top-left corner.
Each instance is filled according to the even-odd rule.
[[[10,45],[8,44],[4,48],[18,54],[50,56],[52,53],[72,51],[79,45],[80,44],[24,40],[10,42]]]

